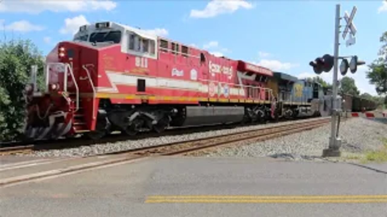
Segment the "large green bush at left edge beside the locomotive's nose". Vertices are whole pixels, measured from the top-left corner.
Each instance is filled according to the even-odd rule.
[[[31,65],[38,65],[39,86],[43,84],[44,61],[29,40],[0,42],[0,141],[20,136],[24,124],[24,88]]]

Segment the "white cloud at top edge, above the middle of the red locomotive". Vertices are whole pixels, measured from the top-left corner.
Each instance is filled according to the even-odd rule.
[[[239,8],[250,9],[253,5],[245,0],[212,0],[203,10],[191,10],[190,17],[209,18],[219,14],[231,14]]]

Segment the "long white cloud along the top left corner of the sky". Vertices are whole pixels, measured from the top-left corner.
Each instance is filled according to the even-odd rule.
[[[113,10],[117,4],[111,0],[11,0],[0,2],[0,12],[40,13],[45,10],[52,12],[79,12],[90,10]]]

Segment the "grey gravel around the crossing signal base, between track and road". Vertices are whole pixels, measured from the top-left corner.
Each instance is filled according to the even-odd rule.
[[[202,156],[213,157],[273,157],[290,160],[321,160],[322,150],[329,143],[331,125],[327,124],[309,131],[299,132],[255,144],[217,148],[203,151]],[[352,118],[341,122],[339,136],[341,151],[363,153],[383,146],[382,138],[387,138],[387,119]],[[197,156],[197,154],[195,154]]]

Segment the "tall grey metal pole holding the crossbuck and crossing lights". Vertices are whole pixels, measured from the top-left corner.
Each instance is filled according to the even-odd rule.
[[[334,44],[334,65],[333,65],[333,82],[332,82],[332,119],[331,131],[329,138],[329,148],[323,151],[323,156],[340,156],[339,148],[340,139],[336,135],[337,122],[337,68],[339,59],[339,34],[340,34],[340,5],[336,5],[335,18],[335,44]]]

